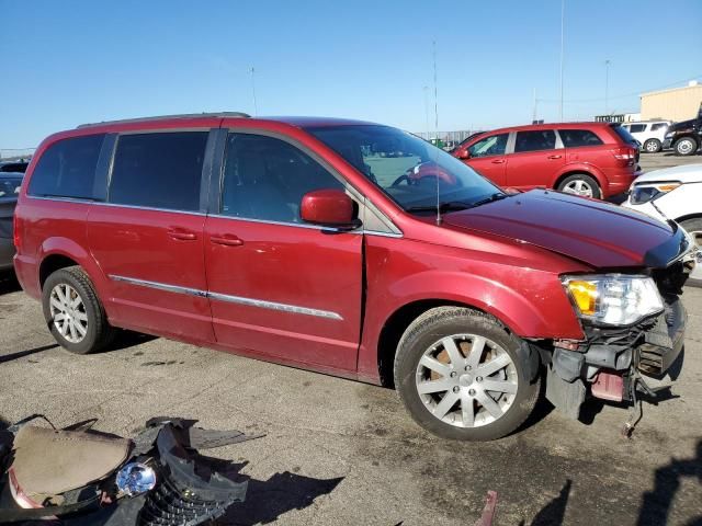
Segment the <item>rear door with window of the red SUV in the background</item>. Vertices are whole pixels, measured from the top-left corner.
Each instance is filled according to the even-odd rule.
[[[566,150],[553,129],[517,132],[507,185],[519,190],[548,187],[566,162]]]

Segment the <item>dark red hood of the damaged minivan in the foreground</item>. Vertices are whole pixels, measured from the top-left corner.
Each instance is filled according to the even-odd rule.
[[[533,190],[446,214],[443,225],[531,243],[595,268],[666,266],[681,229],[608,203]]]

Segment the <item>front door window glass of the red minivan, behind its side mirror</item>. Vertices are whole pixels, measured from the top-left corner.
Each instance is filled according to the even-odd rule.
[[[304,151],[274,137],[229,134],[220,214],[275,222],[303,222],[299,205],[314,190],[343,184]]]

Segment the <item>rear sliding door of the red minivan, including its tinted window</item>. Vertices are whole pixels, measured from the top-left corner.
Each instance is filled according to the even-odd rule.
[[[90,250],[121,327],[213,341],[201,179],[207,132],[121,135],[107,205],[90,207]]]

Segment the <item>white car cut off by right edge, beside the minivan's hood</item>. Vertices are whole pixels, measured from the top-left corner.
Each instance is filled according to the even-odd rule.
[[[690,274],[690,283],[702,286],[702,164],[665,168],[641,175],[622,206],[661,221],[679,222],[698,245],[699,265]]]

